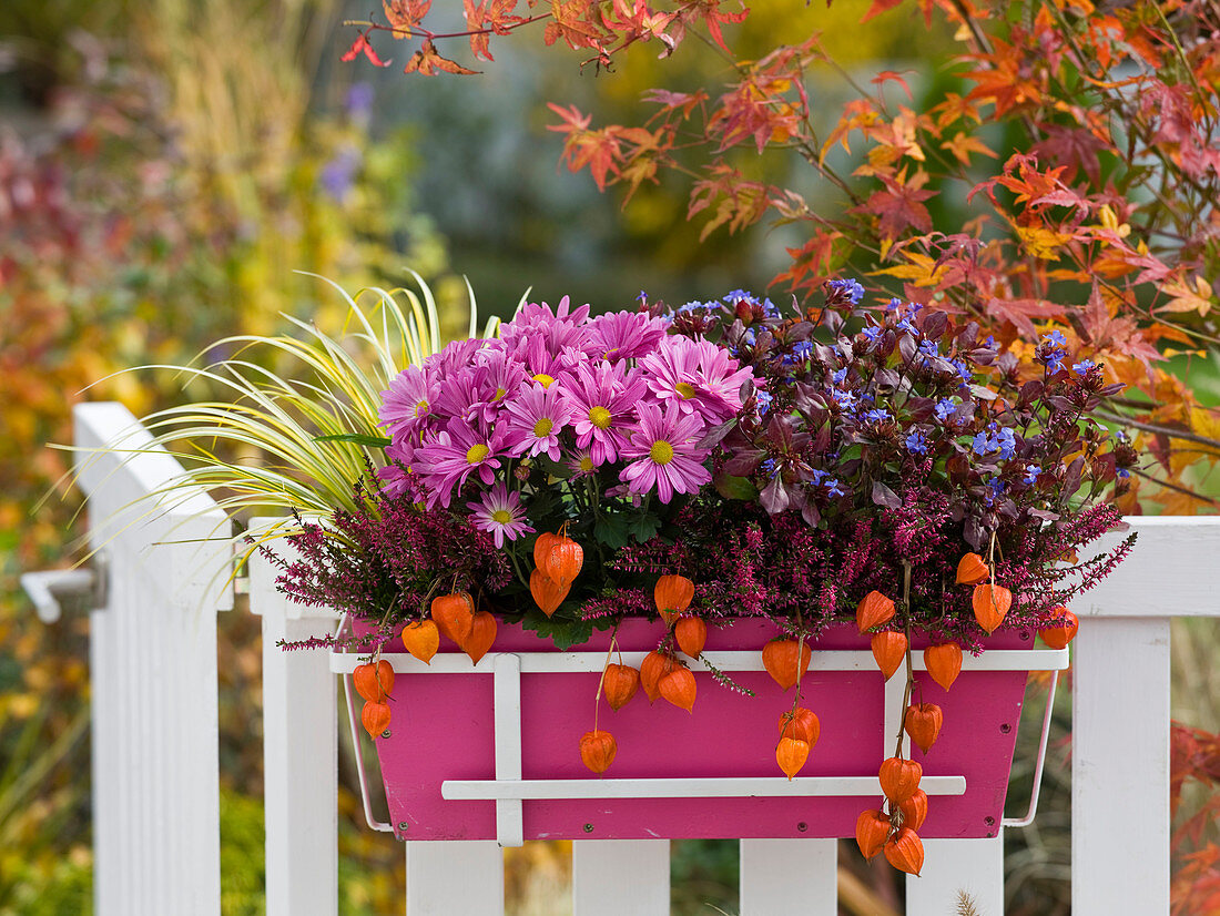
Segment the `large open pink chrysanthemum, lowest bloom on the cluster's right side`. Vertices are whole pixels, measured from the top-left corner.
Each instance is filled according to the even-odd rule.
[[[675,493],[695,493],[711,481],[711,472],[703,466],[705,450],[695,448],[703,437],[703,421],[683,413],[670,401],[665,413],[651,404],[639,405],[639,428],[632,433],[631,444],[622,450],[631,461],[619,474],[633,493],[656,489],[661,503]]]

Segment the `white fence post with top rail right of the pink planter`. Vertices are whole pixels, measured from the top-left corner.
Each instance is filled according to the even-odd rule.
[[[1082,916],[1169,912],[1170,618],[1220,616],[1208,574],[1220,517],[1126,521],[1135,550],[1074,607],[1071,878]]]

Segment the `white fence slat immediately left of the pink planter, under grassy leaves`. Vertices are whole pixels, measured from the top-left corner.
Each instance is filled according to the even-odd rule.
[[[276,520],[254,520],[257,532]],[[277,542],[281,556],[287,544]],[[338,717],[328,653],[276,643],[322,635],[334,615],[276,592],[277,570],[250,557],[250,610],[262,616],[262,759],[267,916],[338,911]],[[304,614],[303,614],[304,611]]]

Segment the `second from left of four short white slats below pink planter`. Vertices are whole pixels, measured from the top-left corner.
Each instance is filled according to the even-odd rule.
[[[669,911],[667,839],[572,842],[572,916],[664,916]]]

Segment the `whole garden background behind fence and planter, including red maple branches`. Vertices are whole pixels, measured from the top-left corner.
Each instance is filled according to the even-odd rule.
[[[215,342],[283,315],[342,326],[296,271],[354,292],[415,270],[451,335],[464,277],[484,316],[527,288],[610,310],[640,290],[803,301],[850,274],[1017,349],[1053,323],[1130,385],[1113,420],[1147,460],[1122,510],[1220,505],[1215,2],[678,2],[659,6],[689,16],[648,27],[640,5],[601,6],[610,66],[571,46],[592,28],[573,22],[554,44],[540,24],[495,35],[494,61],[459,39],[444,60],[488,73],[427,77],[401,72],[420,43],[379,28],[414,24],[409,2],[373,20],[338,0],[0,5],[0,916],[92,906],[87,617],[43,626],[16,589],[71,562],[82,531],[46,444],[70,442],[81,399],[143,415],[216,394],[121,370],[224,355]],[[465,29],[456,2],[428,17]],[[1175,745],[1175,905],[1199,914],[1220,899],[1220,632],[1174,637],[1174,715],[1196,729]],[[222,615],[226,914],[262,909],[259,640],[240,607]],[[1058,705],[1038,820],[1008,840],[1010,914],[1069,911]],[[342,772],[340,911],[396,912],[401,849],[362,827]],[[510,855],[510,911],[565,912],[567,850]],[[858,859],[844,846],[843,912],[893,912],[900,882]],[[673,912],[733,912],[736,866],[732,843],[676,844]]]

